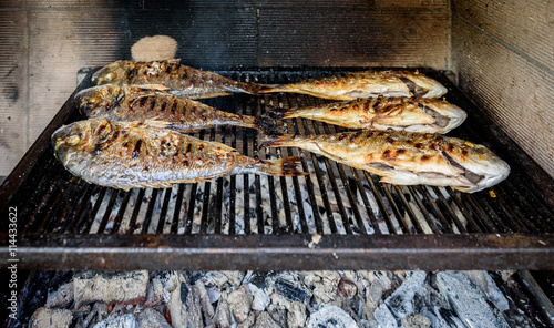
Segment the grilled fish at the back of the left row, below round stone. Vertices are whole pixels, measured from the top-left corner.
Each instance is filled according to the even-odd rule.
[[[181,63],[179,59],[132,62],[116,61],[92,75],[96,84],[136,84],[166,90],[192,99],[227,95],[233,92],[258,93],[255,83],[233,81],[216,73],[196,70]]]

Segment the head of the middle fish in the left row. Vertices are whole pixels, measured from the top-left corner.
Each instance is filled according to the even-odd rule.
[[[123,88],[105,84],[81,90],[75,94],[75,103],[82,114],[88,117],[99,117],[116,107],[124,96]]]

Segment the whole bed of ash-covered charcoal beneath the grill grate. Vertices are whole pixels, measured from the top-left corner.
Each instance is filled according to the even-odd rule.
[[[126,275],[133,281],[133,276],[144,273]],[[55,293],[65,294],[66,286],[92,276],[75,273],[72,281],[49,297],[63,298]],[[156,271],[145,276],[150,291],[143,304],[99,300],[91,306],[75,298],[42,308],[34,318],[63,310],[76,327],[466,328],[509,327],[504,316],[509,311],[514,316],[514,304],[486,271]],[[512,279],[509,274],[495,275],[502,277]],[[105,280],[121,290],[121,279]],[[217,291],[211,296],[209,290]],[[75,308],[74,304],[82,305]],[[524,312],[511,322],[534,327]]]

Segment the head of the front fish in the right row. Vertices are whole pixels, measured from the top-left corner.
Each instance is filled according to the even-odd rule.
[[[450,143],[458,144],[451,146]],[[451,137],[441,147],[441,154],[450,165],[463,170],[459,180],[463,185],[455,188],[474,193],[491,187],[507,177],[510,166],[483,145]]]

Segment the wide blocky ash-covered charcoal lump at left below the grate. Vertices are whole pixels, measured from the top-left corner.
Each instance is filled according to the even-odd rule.
[[[73,277],[75,308],[83,304],[140,304],[146,299],[148,273],[85,271]]]

